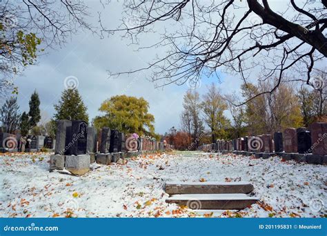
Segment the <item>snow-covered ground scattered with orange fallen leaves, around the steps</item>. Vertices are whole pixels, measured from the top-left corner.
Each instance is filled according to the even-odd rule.
[[[327,166],[237,155],[141,155],[82,177],[49,173],[50,155],[0,156],[0,217],[326,217]],[[166,204],[166,181],[250,181],[240,211]]]

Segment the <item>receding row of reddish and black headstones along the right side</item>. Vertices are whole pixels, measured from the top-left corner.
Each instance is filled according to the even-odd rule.
[[[307,161],[313,164],[327,162],[327,123],[315,122],[309,128],[286,128],[284,132],[256,137],[241,137],[232,141],[217,140],[202,150],[235,151],[237,154],[268,158],[280,155],[286,160]]]

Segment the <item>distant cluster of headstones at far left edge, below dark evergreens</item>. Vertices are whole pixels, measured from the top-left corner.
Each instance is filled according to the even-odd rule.
[[[21,137],[8,132],[0,132],[0,153],[6,152],[37,152],[41,148],[53,149],[55,139],[50,136],[28,135]]]

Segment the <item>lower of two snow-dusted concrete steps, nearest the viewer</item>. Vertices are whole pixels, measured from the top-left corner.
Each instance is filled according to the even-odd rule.
[[[201,210],[242,210],[259,199],[246,194],[184,194],[173,195],[166,199],[167,203],[187,206],[190,209]]]

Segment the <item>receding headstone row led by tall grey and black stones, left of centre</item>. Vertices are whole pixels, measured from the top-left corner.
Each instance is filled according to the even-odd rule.
[[[110,164],[142,151],[164,150],[164,142],[147,137],[125,137],[119,130],[102,128],[97,140],[95,127],[85,121],[57,121],[56,146],[50,157],[50,171],[64,168],[74,175],[90,170],[90,163]]]

